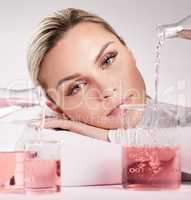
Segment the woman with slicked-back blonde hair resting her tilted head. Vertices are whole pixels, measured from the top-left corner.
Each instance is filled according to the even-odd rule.
[[[83,10],[60,10],[41,21],[29,47],[28,67],[34,84],[59,113],[46,119],[47,128],[117,142],[119,106],[152,105],[125,41],[104,19]],[[159,103],[158,116],[159,127],[166,126],[163,116],[173,124],[191,124],[189,108]],[[136,123],[139,119],[137,115]]]

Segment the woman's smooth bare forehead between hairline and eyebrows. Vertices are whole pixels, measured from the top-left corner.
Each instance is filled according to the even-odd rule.
[[[46,55],[41,66],[42,78],[43,74],[43,79],[52,80],[62,73],[67,76],[88,70],[102,46],[111,40],[119,42],[100,24],[83,22],[74,26]]]

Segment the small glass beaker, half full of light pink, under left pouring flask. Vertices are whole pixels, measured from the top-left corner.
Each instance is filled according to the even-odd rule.
[[[24,185],[26,193],[49,193],[61,191],[61,147],[52,133],[36,132],[27,127],[30,138],[24,141],[26,152],[33,152],[24,163]],[[41,135],[41,136],[39,136]],[[32,136],[32,137],[31,137]]]

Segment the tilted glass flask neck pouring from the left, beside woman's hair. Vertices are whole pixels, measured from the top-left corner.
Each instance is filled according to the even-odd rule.
[[[12,121],[12,118],[15,118],[13,114],[19,112],[22,112],[21,118],[27,115],[25,118],[29,120],[31,116],[27,111],[41,111],[44,102],[47,100],[40,87],[20,90],[0,88],[0,120]]]

